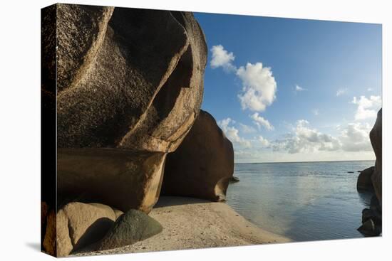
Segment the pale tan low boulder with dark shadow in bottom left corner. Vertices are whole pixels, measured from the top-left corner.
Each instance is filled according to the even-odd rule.
[[[113,208],[99,203],[68,203],[56,215],[57,256],[97,242],[115,222]]]

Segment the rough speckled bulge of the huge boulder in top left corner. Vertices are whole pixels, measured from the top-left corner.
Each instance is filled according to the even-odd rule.
[[[103,43],[113,7],[57,5],[57,90],[78,85]]]

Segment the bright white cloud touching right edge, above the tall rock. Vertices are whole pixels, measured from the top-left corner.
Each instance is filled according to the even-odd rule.
[[[354,105],[358,105],[354,118],[356,120],[376,118],[377,111],[381,108],[381,97],[371,95],[369,98],[361,96],[353,98]]]

